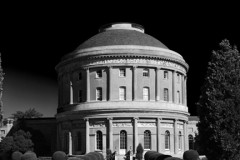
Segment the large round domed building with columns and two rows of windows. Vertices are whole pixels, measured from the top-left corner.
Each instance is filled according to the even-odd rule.
[[[58,149],[119,159],[128,151],[188,149],[188,64],[141,25],[113,23],[56,66]]]

